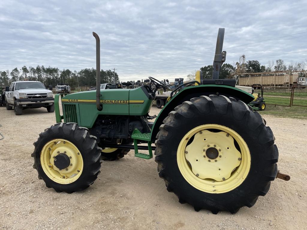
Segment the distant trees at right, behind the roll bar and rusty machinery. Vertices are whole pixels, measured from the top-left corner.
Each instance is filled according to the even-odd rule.
[[[276,62],[269,61],[266,65],[261,65],[257,60],[249,60],[245,64],[247,70],[251,70],[253,73],[271,72],[271,71],[305,71],[307,67],[307,59],[305,62],[291,62],[286,64],[284,60],[277,59]],[[201,67],[203,79],[211,79],[213,72],[213,65]],[[220,79],[225,79],[229,74],[235,71],[235,67],[231,64],[224,63],[220,69]],[[189,81],[195,80],[196,70],[187,75]],[[299,73],[301,77],[303,73]]]

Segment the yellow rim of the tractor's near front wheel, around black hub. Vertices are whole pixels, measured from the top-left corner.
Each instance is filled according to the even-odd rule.
[[[54,164],[58,154],[66,154],[69,158],[69,166],[60,170]],[[75,182],[83,171],[83,158],[79,149],[68,140],[54,139],[49,141],[41,151],[41,167],[45,174],[59,184]]]

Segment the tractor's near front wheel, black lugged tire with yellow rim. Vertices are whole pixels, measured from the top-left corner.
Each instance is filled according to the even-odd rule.
[[[75,123],[58,123],[45,129],[32,153],[38,178],[56,192],[82,191],[97,179],[100,151],[97,138]]]

